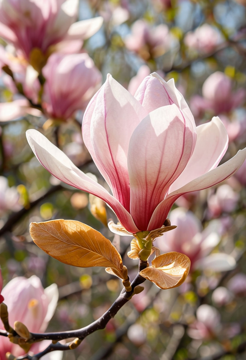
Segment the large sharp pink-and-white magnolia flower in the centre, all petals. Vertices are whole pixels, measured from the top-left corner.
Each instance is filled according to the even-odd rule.
[[[41,164],[58,179],[103,199],[120,225],[135,234],[161,228],[182,194],[230,177],[246,158],[246,148],[218,163],[228,136],[218,117],[197,126],[185,99],[156,73],[132,96],[108,75],[87,106],[83,141],[113,195],[80,171],[36,130],[27,140]]]

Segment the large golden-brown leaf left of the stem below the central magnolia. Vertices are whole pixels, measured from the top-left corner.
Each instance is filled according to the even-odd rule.
[[[90,226],[76,220],[32,222],[33,241],[47,254],[64,264],[111,267],[124,279],[122,258],[111,242]]]

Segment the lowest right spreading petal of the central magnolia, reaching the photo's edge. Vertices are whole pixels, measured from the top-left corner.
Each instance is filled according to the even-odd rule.
[[[240,168],[245,159],[246,148],[243,150],[239,150],[233,158],[231,158],[224,164],[218,166],[213,170],[210,170],[204,175],[197,177],[182,188],[177,189],[171,194],[169,194],[168,197],[163,200],[153,212],[148,226],[148,230],[158,229],[160,227],[163,219],[166,219],[170,208],[177,200],[177,198],[179,198],[179,196],[185,193],[189,193],[191,191],[206,189],[210,186],[221,183],[222,181],[228,179],[228,177],[231,177],[234,172],[236,172]]]

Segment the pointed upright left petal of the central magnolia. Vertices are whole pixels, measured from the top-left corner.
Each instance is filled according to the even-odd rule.
[[[137,100],[108,75],[105,84],[88,104],[83,118],[84,143],[114,197],[128,211],[128,145],[133,131],[146,115]]]

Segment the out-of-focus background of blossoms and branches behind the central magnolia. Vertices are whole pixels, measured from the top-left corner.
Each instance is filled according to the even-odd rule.
[[[0,39],[3,285],[16,276],[32,275],[44,288],[56,283],[59,301],[50,331],[91,323],[110,307],[122,285],[101,267],[82,269],[49,257],[33,243],[30,222],[84,222],[113,242],[131,278],[138,262],[127,257],[131,239],[113,235],[105,226],[106,217],[116,220],[112,211],[51,176],[33,155],[26,130],[41,131],[106,186],[82,140],[86,104],[107,73],[134,94],[144,77],[156,71],[166,81],[174,78],[196,125],[221,118],[229,136],[226,161],[246,146],[245,13],[244,0],[81,0],[74,21],[102,16],[103,25],[83,44],[65,46],[60,55],[55,49],[57,57],[42,59],[42,65],[40,54],[28,62],[16,46]],[[39,71],[31,83],[29,63]],[[69,96],[71,103],[64,108]],[[170,214],[178,228],[155,245],[161,252],[179,251],[191,258],[186,282],[163,291],[146,281],[144,292],[105,330],[64,352],[63,359],[245,359],[245,185],[246,163],[223,184],[179,198]]]

